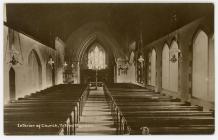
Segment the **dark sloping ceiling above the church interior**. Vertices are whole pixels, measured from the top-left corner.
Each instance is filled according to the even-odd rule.
[[[144,44],[197,18],[210,16],[213,4],[6,4],[7,25],[53,47],[54,37],[66,41],[69,35],[88,22],[103,22],[122,40],[135,39],[139,30]],[[176,15],[176,22],[172,22]]]

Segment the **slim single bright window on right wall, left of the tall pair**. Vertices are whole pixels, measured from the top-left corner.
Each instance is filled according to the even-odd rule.
[[[151,52],[151,85],[156,86],[156,51]]]

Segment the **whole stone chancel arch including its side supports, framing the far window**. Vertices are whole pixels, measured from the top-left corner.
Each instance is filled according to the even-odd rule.
[[[95,27],[97,25],[95,24],[93,26]],[[84,26],[80,29],[82,28],[84,28]],[[116,66],[115,60],[118,58],[125,58],[122,47],[117,40],[107,32],[107,30],[102,31],[102,29],[90,29],[88,32],[84,32],[82,38],[78,38],[75,32],[72,33],[66,42],[65,59],[70,65],[72,63],[76,64],[74,65],[74,79],[76,83],[82,83],[88,80],[84,76],[87,72],[85,74],[83,72],[88,69],[88,50],[95,43],[100,44],[105,50],[105,59],[108,70],[107,74],[111,74],[109,78],[110,80],[108,80],[111,82],[116,81],[114,77],[114,69]]]

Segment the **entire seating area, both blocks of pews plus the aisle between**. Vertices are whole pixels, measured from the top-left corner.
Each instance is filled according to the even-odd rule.
[[[214,132],[214,112],[203,111],[200,106],[134,84],[102,83],[97,90],[90,85],[57,85],[5,105],[5,134],[152,135]]]

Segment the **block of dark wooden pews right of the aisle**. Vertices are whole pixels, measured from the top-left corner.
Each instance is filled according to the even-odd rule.
[[[133,84],[108,84],[117,134],[213,134],[214,112]]]

